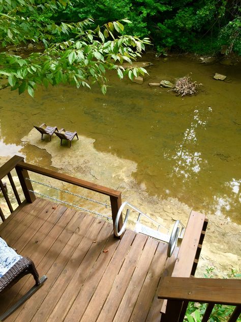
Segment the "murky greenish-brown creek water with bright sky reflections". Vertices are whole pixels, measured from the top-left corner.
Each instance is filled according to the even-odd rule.
[[[152,61],[143,85],[109,75],[108,92],[58,87],[27,94],[1,91],[0,155],[23,154],[50,166],[47,152],[20,139],[33,124],[77,130],[95,148],[137,163],[134,177],[147,192],[176,197],[195,210],[223,213],[240,223],[241,68],[204,65],[187,58]],[[215,81],[214,73],[227,75]],[[197,96],[177,97],[149,82],[191,75]]]

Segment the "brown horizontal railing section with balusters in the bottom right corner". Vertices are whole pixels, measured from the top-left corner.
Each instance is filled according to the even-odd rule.
[[[172,308],[172,316],[166,313],[161,322],[182,322],[183,306],[186,312],[189,302],[208,303],[202,322],[208,321],[215,304],[234,305],[228,321],[235,322],[241,313],[241,280],[164,277],[158,297],[168,299],[169,309]],[[177,307],[181,309],[177,310]]]

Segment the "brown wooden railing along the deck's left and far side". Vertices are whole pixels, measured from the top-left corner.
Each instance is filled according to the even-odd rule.
[[[23,194],[25,197],[25,201],[28,203],[32,203],[36,199],[35,195],[32,192],[29,192],[29,190],[33,191],[33,186],[32,186],[31,181],[27,180],[27,179],[29,179],[28,172],[38,173],[38,174],[41,174],[46,177],[50,177],[53,179],[57,179],[60,181],[71,183],[73,185],[83,187],[87,190],[92,190],[97,193],[109,196],[110,197],[110,204],[111,204],[112,220],[113,220],[113,225],[114,225],[118,209],[119,209],[120,205],[122,204],[122,197],[121,197],[122,193],[121,192],[110,189],[108,187],[105,187],[105,186],[102,186],[99,184],[89,182],[89,181],[74,178],[74,177],[71,177],[67,174],[58,173],[56,171],[52,171],[52,170],[44,169],[44,168],[37,167],[37,166],[31,165],[31,164],[27,164],[24,162],[23,157],[17,156],[17,155],[13,156],[6,164],[4,164],[0,168],[0,187],[1,187],[2,193],[4,195],[4,198],[6,200],[6,203],[9,207],[9,210],[11,213],[14,211],[14,209],[12,207],[10,200],[9,200],[8,193],[4,189],[2,179],[5,176],[8,176],[9,181],[12,186],[12,189],[13,189],[13,192],[15,194],[16,200],[18,202],[18,205],[21,205],[22,202],[20,200],[20,197],[18,195],[16,186],[14,184],[14,181],[13,181],[13,178],[11,175],[11,171],[13,169],[15,169],[17,172],[19,182],[21,184],[21,188],[22,188],[22,191],[23,191]],[[5,216],[4,216],[4,213],[1,209],[1,207],[0,207],[0,217],[3,221],[5,220]],[[123,225],[123,220],[122,220],[122,218],[120,218],[118,230],[120,230],[122,228],[122,225]],[[115,236],[115,237],[117,237],[117,236]],[[117,238],[121,238],[121,237],[122,236],[119,236]]]

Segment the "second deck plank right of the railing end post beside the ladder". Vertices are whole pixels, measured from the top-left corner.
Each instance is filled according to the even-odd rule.
[[[119,303],[122,301],[146,240],[146,236],[136,235],[130,252],[126,257],[122,268],[120,269],[120,272],[109,292],[108,298],[100,312],[100,315],[97,319],[98,322],[113,321],[114,315],[118,309]]]

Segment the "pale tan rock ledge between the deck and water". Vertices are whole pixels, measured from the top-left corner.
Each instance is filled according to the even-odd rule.
[[[185,225],[187,224],[192,209],[175,198],[161,199],[157,196],[149,196],[145,186],[138,185],[132,176],[137,169],[137,165],[134,162],[119,158],[111,153],[97,151],[94,148],[94,139],[80,136],[79,141],[75,142],[75,140],[72,143],[72,148],[65,144],[60,146],[57,137],[54,136],[51,143],[47,139],[41,141],[40,133],[33,129],[21,141],[25,144],[24,149],[31,145],[42,149],[44,153],[47,152],[51,159],[51,167],[55,168],[55,170],[121,191],[123,201],[128,200],[165,227],[171,228],[177,219],[181,220]],[[0,157],[0,165],[4,164],[8,159],[9,157]],[[43,177],[37,177],[36,175],[31,175],[31,178],[40,182],[42,182],[41,179],[43,180]],[[17,181],[17,177],[14,177],[14,180]],[[68,184],[56,182],[56,180],[44,178],[43,182],[74,193],[84,194],[87,197],[99,198],[98,200],[101,202],[108,202],[108,198],[105,196],[96,196],[92,192],[86,191],[81,191],[80,193],[75,187],[70,188]],[[19,187],[19,183],[17,183],[17,187]],[[36,190],[56,197],[56,194],[50,192],[49,187],[39,186]],[[10,199],[14,199],[11,190],[9,194]],[[62,192],[57,192],[57,197],[63,198]],[[76,197],[67,195],[65,200],[74,202]],[[79,204],[79,201],[77,204]],[[0,198],[0,206],[3,211],[7,211],[3,198]],[[103,210],[103,206],[99,204],[92,205],[91,209],[109,214],[109,209]],[[134,227],[137,216],[137,212],[131,213],[129,227]],[[205,269],[209,266],[216,267],[215,274],[217,276],[227,276],[231,269],[238,273],[241,272],[240,225],[232,223],[222,215],[208,214],[207,218],[209,223],[196,276],[202,277]]]

